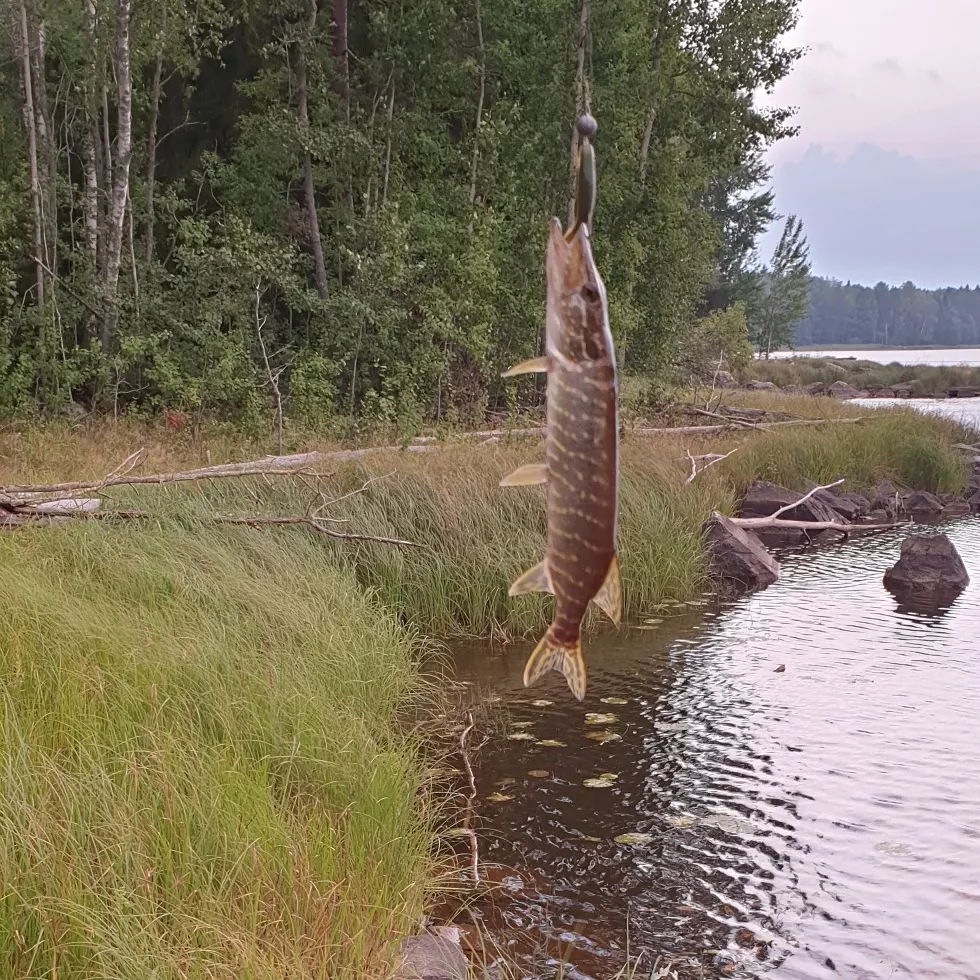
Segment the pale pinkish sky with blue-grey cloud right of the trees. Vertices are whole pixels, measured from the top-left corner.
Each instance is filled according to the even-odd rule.
[[[814,273],[980,282],[980,0],[802,0],[801,12],[786,40],[808,50],[762,101],[797,109],[800,134],[769,162]]]

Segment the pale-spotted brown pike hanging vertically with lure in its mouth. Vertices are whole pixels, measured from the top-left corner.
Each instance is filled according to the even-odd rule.
[[[529,687],[556,670],[579,701],[585,698],[582,621],[594,602],[617,626],[622,586],[616,555],[619,410],[616,356],[606,288],[592,257],[589,225],[595,203],[591,116],[582,137],[574,220],[567,233],[551,219],[545,256],[545,355],[504,377],[547,373],[545,461],[521,466],[503,487],[547,484],[548,543],[542,562],[511,585],[511,596],[548,592],[555,616],[524,668]]]

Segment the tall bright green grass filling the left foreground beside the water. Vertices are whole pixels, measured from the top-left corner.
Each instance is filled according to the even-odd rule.
[[[0,975],[386,975],[430,868],[399,725],[427,695],[319,542],[3,535],[0,645]]]

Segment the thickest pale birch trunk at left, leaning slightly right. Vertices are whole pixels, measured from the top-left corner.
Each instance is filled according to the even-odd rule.
[[[109,200],[105,258],[105,307],[102,319],[102,349],[115,343],[119,267],[122,260],[123,225],[129,197],[129,162],[133,151],[133,83],[130,75],[129,16],[132,0],[116,0],[116,153],[113,164],[112,196]]]

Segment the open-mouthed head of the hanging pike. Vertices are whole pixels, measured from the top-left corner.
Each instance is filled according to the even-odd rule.
[[[566,237],[553,219],[546,267],[549,352],[572,363],[612,358],[606,287],[592,257],[588,225],[579,223]]]

